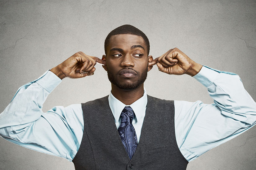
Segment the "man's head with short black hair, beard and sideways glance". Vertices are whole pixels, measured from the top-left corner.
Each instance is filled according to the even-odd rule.
[[[103,68],[113,87],[133,90],[141,86],[147,77],[149,41],[146,35],[131,25],[120,26],[109,33],[105,40],[106,61]]]

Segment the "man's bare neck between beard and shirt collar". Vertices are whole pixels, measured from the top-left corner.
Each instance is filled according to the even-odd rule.
[[[123,90],[111,83],[112,87],[112,95],[115,96],[119,101],[124,103],[125,105],[130,105],[139,98],[141,98],[144,94],[144,88],[143,88],[143,83],[137,87],[136,89],[133,90]]]

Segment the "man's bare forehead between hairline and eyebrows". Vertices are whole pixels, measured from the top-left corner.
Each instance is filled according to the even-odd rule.
[[[108,50],[112,48],[128,49],[132,45],[141,45],[146,51],[146,44],[141,36],[131,34],[119,34],[110,37]]]

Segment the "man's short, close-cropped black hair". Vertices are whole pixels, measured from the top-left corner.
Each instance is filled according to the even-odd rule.
[[[136,36],[141,36],[147,46],[147,53],[149,55],[150,45],[149,45],[149,40],[147,36],[138,28],[128,24],[117,27],[108,34],[104,43],[104,49],[105,49],[106,55],[107,55],[107,46],[109,45],[110,37],[114,35],[119,35],[119,34],[132,34]]]

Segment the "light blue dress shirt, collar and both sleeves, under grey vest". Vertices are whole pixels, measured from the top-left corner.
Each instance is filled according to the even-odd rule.
[[[207,87],[214,103],[174,101],[176,141],[188,161],[245,132],[256,123],[256,103],[237,74],[203,66],[193,78]],[[47,96],[61,81],[51,71],[46,71],[38,79],[21,86],[0,114],[0,135],[23,147],[72,161],[83,136],[81,104],[56,106],[46,113],[42,112]],[[135,113],[132,124],[138,142],[146,104],[144,89],[144,95],[130,105]],[[118,128],[121,111],[127,105],[117,100],[111,91],[109,105]]]

